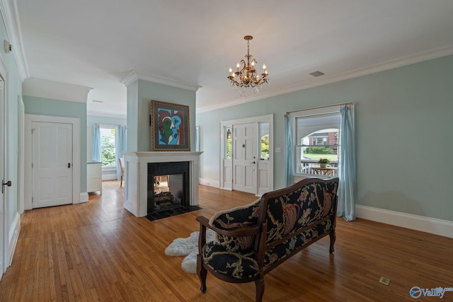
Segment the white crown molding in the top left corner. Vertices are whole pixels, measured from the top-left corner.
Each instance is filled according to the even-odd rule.
[[[11,40],[12,54],[16,61],[21,80],[25,81],[30,77],[28,72],[25,53],[23,50],[23,41],[21,35],[21,24],[19,22],[18,9],[16,0],[0,0],[1,16],[4,19],[6,35]]]

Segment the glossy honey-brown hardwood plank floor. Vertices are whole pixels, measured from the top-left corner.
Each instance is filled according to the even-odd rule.
[[[84,204],[26,211],[0,301],[254,301],[253,283],[209,274],[202,294],[196,274],[180,269],[183,257],[164,249],[197,231],[196,216],[255,196],[200,186],[202,210],[149,221],[123,208],[123,190],[103,182],[103,194]],[[263,301],[413,301],[412,286],[453,287],[452,238],[338,218],[333,255],[328,243],[319,240],[267,274]],[[453,301],[453,292],[442,301]]]

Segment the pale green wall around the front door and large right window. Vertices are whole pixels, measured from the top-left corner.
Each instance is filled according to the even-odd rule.
[[[201,178],[219,180],[219,123],[275,115],[284,149],[285,112],[355,102],[357,204],[453,221],[453,56],[197,114]],[[272,85],[270,83],[269,85]],[[275,188],[284,153],[275,154]]]

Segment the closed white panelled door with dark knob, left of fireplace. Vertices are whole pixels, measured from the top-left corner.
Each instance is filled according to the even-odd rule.
[[[32,123],[33,208],[72,204],[72,124]]]

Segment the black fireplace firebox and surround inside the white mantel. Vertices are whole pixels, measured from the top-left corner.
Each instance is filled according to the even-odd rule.
[[[148,214],[190,205],[189,162],[148,163],[147,187]]]

